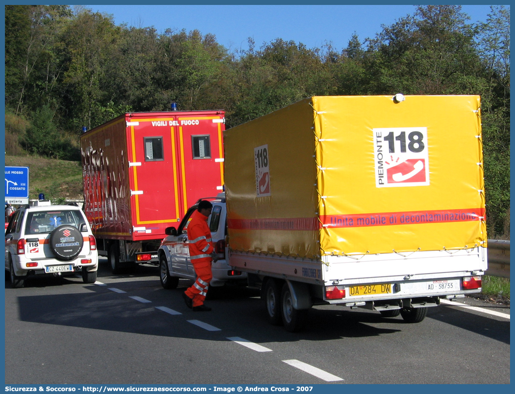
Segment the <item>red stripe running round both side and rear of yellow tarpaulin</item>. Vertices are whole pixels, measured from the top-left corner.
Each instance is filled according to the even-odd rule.
[[[377,212],[373,214],[325,215],[317,218],[229,219],[231,229],[315,231],[332,228],[393,226],[403,224],[452,223],[482,220],[485,208],[428,211]]]

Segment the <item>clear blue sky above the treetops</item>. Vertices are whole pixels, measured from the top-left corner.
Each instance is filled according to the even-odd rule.
[[[115,3],[115,2],[111,2]],[[126,2],[127,3],[127,2]],[[167,28],[211,33],[229,50],[248,48],[252,37],[256,48],[277,38],[303,43],[308,48],[332,42],[345,48],[356,32],[362,42],[407,14],[411,5],[89,5],[92,11],[112,14],[114,23],[150,27],[163,33]],[[462,6],[469,22],[485,22],[488,5]]]

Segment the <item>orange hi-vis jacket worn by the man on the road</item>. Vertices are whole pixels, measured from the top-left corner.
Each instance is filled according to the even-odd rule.
[[[186,233],[189,240],[192,264],[211,260],[211,253],[213,253],[215,248],[211,240],[208,217],[202,215],[198,210],[193,212],[192,220],[186,229]]]

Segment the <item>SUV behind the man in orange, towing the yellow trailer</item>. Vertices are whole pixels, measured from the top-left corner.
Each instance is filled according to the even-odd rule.
[[[208,218],[208,225],[211,230],[211,239],[218,254],[218,260],[213,262],[211,271],[213,278],[210,287],[224,286],[227,283],[247,284],[247,273],[233,270],[226,260],[227,221],[225,205],[225,194],[220,193],[217,197],[207,197],[202,200],[210,200],[213,210]],[[200,201],[200,200],[199,200]],[[186,228],[190,224],[191,216],[198,207],[198,201],[190,209],[179,223],[179,227],[167,227],[165,233],[168,235],[161,242],[158,250],[159,269],[161,285],[165,289],[175,289],[179,284],[179,278],[196,280],[197,276],[190,259],[188,248],[188,237]]]

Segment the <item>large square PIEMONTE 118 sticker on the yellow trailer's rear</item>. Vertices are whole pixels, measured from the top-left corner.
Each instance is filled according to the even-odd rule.
[[[374,128],[375,186],[429,185],[427,127]]]

